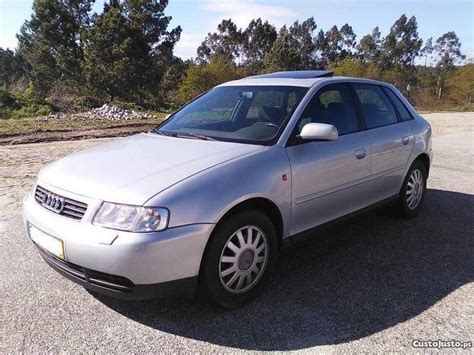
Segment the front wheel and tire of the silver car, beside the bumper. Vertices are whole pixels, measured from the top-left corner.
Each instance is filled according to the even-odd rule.
[[[206,247],[201,292],[219,306],[236,308],[258,294],[276,260],[277,234],[270,218],[256,210],[231,215],[219,222]]]

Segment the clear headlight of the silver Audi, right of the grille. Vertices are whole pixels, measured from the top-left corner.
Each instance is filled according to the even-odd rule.
[[[118,205],[104,202],[93,224],[129,232],[156,232],[168,226],[166,208]]]

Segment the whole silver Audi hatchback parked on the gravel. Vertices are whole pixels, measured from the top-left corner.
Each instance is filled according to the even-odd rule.
[[[277,72],[44,167],[23,214],[44,260],[87,289],[235,307],[289,240],[388,201],[415,216],[431,161],[431,128],[394,86]]]

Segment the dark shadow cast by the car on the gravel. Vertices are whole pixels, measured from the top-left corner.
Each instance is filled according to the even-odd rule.
[[[226,311],[195,300],[94,295],[151,328],[244,350],[297,350],[405,322],[474,280],[474,195],[429,190],[415,219],[369,212],[284,250],[261,295]]]

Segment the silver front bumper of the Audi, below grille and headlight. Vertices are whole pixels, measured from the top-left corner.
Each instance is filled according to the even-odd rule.
[[[58,189],[54,192],[84,199]],[[87,202],[89,206],[99,205]],[[76,221],[45,209],[31,195],[23,202],[25,224],[64,243],[64,260],[40,248],[45,261],[82,286],[129,299],[184,295],[195,290],[213,224],[130,233],[94,226],[92,215],[88,211]]]

